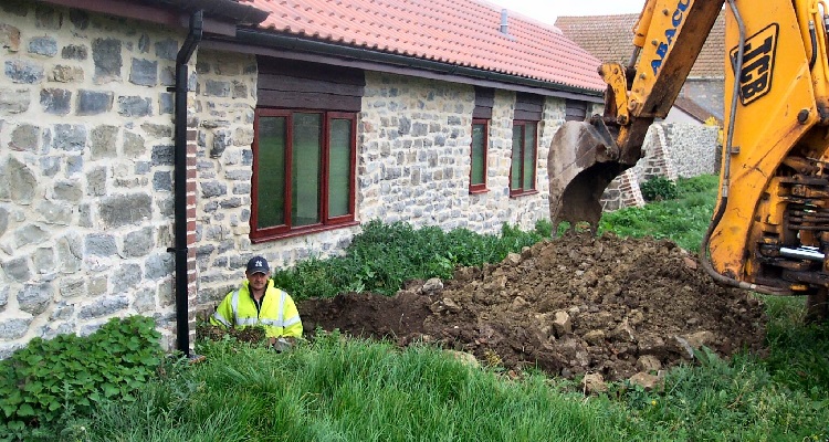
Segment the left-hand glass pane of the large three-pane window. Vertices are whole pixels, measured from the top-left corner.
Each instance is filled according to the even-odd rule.
[[[285,224],[285,117],[259,118],[256,227]]]

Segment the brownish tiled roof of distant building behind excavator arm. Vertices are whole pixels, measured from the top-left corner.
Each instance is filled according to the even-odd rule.
[[[628,64],[633,53],[633,27],[639,14],[559,17],[556,27],[602,62]],[[725,15],[720,13],[691,69],[691,78],[723,78]]]

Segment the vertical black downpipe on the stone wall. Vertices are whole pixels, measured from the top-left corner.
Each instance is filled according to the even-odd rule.
[[[189,73],[187,63],[201,41],[203,30],[203,11],[193,12],[190,17],[190,32],[176,56],[176,126],[175,126],[175,162],[174,200],[176,223],[176,343],[178,350],[190,357],[190,326],[187,305],[187,93]]]

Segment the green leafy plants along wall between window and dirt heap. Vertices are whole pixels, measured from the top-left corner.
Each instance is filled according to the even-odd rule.
[[[274,271],[273,280],[296,301],[348,292],[392,295],[409,280],[449,278],[457,266],[500,262],[511,252],[549,238],[552,231],[549,221],[538,221],[531,232],[504,224],[501,235],[494,235],[372,220],[354,236],[344,256],[305,260]]]

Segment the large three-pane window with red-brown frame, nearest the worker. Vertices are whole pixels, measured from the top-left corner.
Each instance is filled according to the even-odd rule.
[[[354,223],[356,113],[256,109],[251,239]]]

